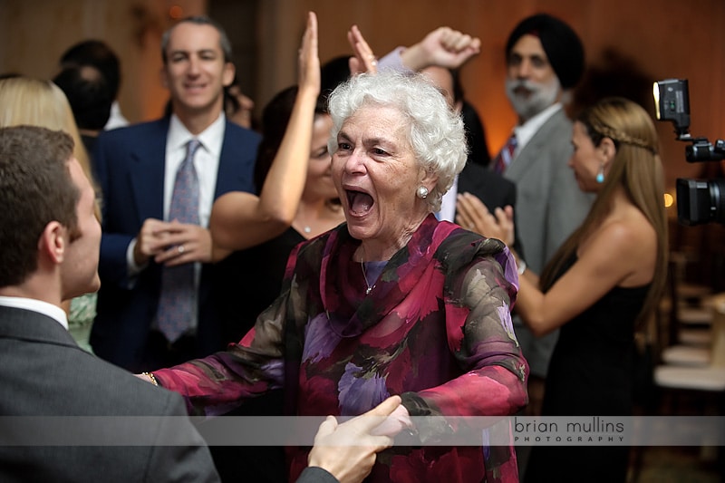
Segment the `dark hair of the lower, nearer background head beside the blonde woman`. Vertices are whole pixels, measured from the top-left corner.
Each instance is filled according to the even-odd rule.
[[[103,129],[111,117],[113,96],[101,71],[92,65],[72,65],[59,72],[53,82],[68,98],[79,129]]]

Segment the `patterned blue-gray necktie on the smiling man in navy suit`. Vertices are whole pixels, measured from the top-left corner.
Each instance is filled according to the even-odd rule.
[[[171,195],[169,220],[198,225],[198,176],[194,155],[201,144],[190,140],[187,156],[179,166]],[[161,293],[157,319],[159,330],[169,343],[175,342],[192,326],[197,307],[194,264],[161,267]]]

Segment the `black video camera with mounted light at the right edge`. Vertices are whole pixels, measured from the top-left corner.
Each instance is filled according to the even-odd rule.
[[[689,141],[688,162],[725,159],[725,141],[713,145],[707,138],[690,135],[690,92],[687,79],[654,82],[654,110],[658,121],[672,121],[677,140]],[[677,220],[682,225],[717,222],[725,225],[725,180],[677,179]]]

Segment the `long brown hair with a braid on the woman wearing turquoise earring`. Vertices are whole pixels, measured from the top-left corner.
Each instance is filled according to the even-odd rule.
[[[667,273],[667,217],[664,210],[664,176],[659,153],[657,131],[652,118],[633,101],[610,97],[596,102],[576,119],[599,146],[604,138],[614,141],[616,154],[584,223],[566,239],[546,264],[540,285],[546,292],[561,274],[568,260],[595,227],[612,210],[614,193],[623,188],[627,198],[650,222],[657,234],[657,258],[652,286],[637,318],[640,324],[659,303]]]

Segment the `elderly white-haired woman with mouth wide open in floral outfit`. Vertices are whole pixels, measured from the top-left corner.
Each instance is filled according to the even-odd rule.
[[[346,223],[295,247],[281,295],[239,343],[157,382],[206,415],[279,387],[305,416],[362,414],[394,394],[398,421],[517,412],[528,367],[513,257],[433,215],[466,162],[459,116],[424,77],[390,72],[353,76],[329,108]],[[442,428],[410,429],[417,446],[384,450],[368,481],[517,479],[510,445],[440,447]],[[294,480],[306,450],[290,456]]]

